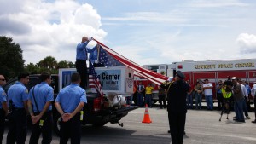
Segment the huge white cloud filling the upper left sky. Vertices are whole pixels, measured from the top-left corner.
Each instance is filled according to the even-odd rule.
[[[11,3],[17,8],[5,9],[1,13],[0,34],[13,37],[15,43],[20,43],[26,63],[36,63],[48,55],[57,60],[74,61],[75,54],[70,50],[75,51],[81,37],[95,37],[102,41],[107,35],[101,29],[101,16],[90,4],[81,5],[73,0],[19,2],[0,2],[0,8],[10,7]],[[95,43],[90,43],[89,47],[92,44]]]

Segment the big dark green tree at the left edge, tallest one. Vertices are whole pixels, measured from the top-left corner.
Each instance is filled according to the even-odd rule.
[[[24,71],[24,60],[20,44],[11,37],[0,36],[0,73],[13,78]]]

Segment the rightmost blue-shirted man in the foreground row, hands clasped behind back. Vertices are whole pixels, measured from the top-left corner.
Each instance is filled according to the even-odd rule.
[[[86,92],[79,87],[81,78],[79,73],[73,73],[71,83],[61,89],[55,100],[55,107],[61,114],[60,144],[79,144],[81,138],[81,121],[83,120],[84,103],[87,103]]]

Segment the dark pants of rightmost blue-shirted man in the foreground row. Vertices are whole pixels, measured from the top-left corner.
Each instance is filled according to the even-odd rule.
[[[60,144],[67,144],[70,138],[71,144],[80,144],[81,121],[80,114],[76,114],[67,122],[61,121]]]

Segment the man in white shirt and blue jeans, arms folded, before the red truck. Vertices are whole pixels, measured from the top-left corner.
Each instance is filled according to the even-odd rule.
[[[203,89],[205,93],[205,98],[207,101],[207,109],[213,110],[213,100],[212,100],[212,83],[209,83],[208,79],[205,79],[205,84],[203,84]]]

